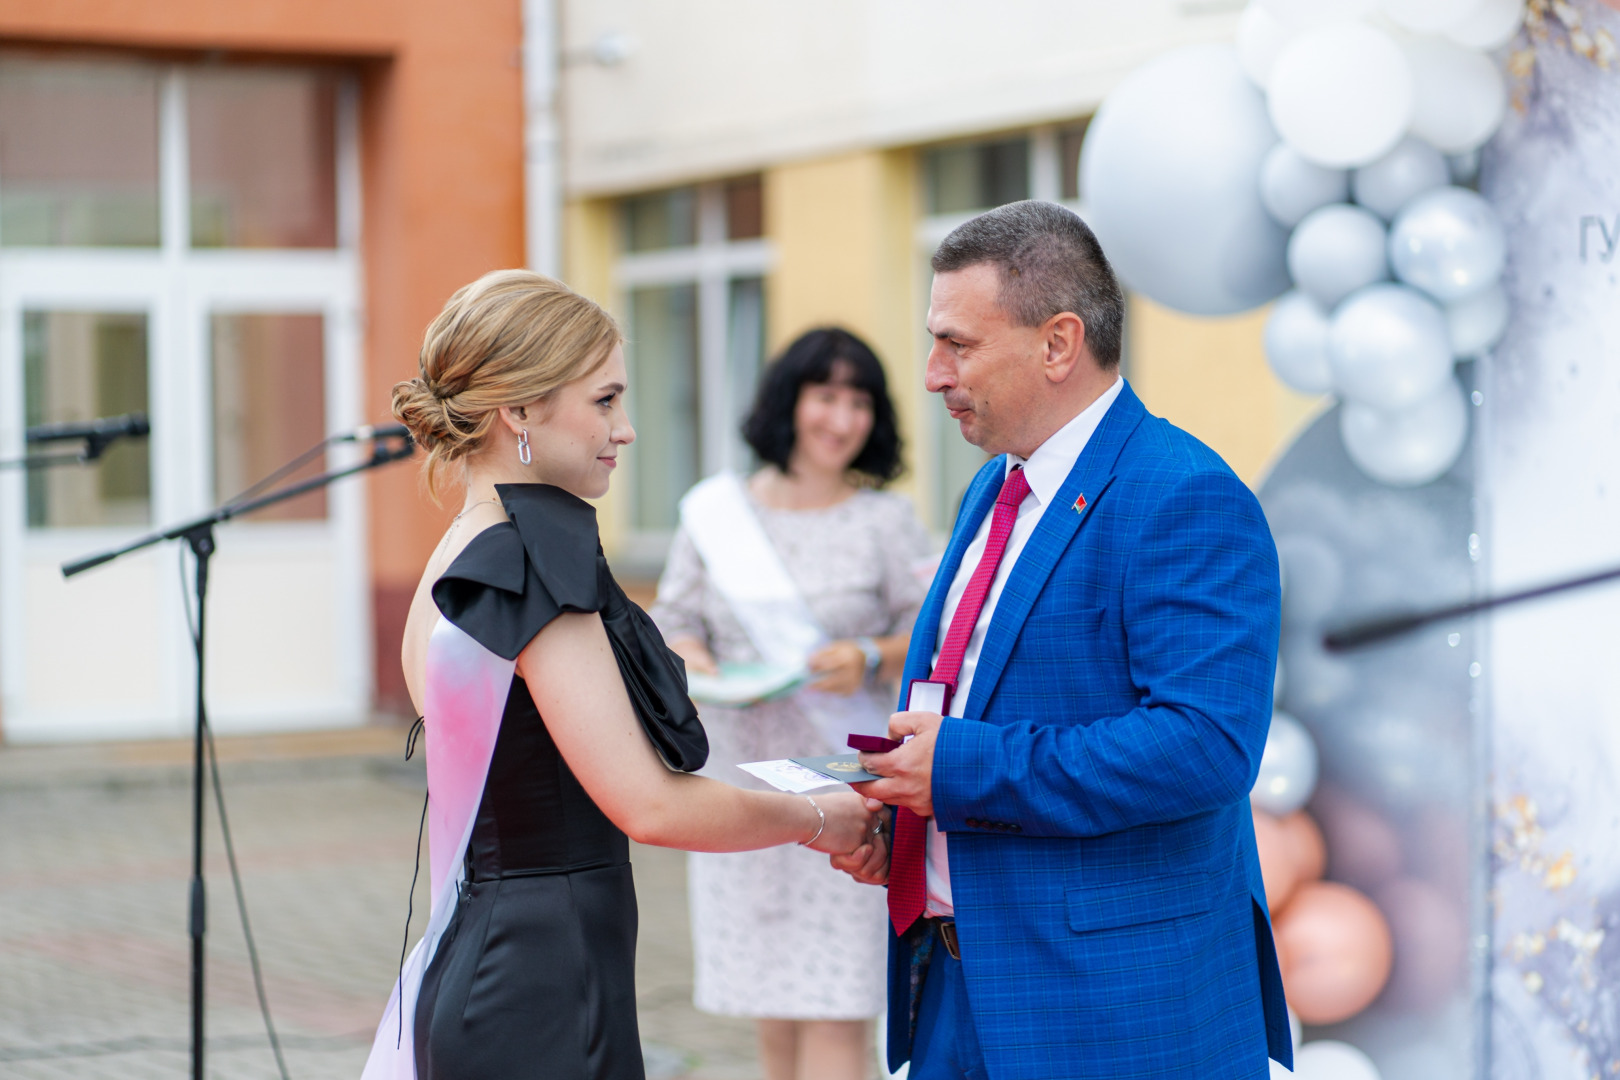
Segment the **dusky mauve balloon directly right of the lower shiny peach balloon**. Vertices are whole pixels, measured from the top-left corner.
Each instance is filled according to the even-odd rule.
[[[1395,939],[1395,970],[1383,999],[1400,1009],[1434,1012],[1468,975],[1468,920],[1426,881],[1403,878],[1377,892]]]

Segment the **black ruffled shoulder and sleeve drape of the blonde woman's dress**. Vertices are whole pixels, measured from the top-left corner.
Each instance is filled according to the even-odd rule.
[[[467,544],[433,583],[444,617],[509,661],[562,612],[601,612],[624,688],[671,769],[708,759],[687,665],[614,581],[591,504],[549,484],[497,484],[509,521]]]

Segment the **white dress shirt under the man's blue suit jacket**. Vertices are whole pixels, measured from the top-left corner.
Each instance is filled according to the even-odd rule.
[[[1013,534],[1008,538],[1006,551],[1001,555],[1001,565],[996,567],[996,578],[990,583],[990,593],[985,594],[985,606],[978,612],[978,622],[974,625],[974,633],[967,640],[967,651],[962,654],[962,670],[956,677],[956,693],[951,695],[949,716],[961,717],[962,709],[967,708],[967,698],[974,690],[974,669],[978,667],[978,649],[985,644],[985,631],[990,630],[990,620],[996,612],[996,601],[1001,599],[1001,589],[1008,583],[1008,575],[1013,573],[1014,563],[1017,563],[1019,554],[1024,551],[1024,544],[1029,542],[1030,534],[1035,526],[1040,525],[1040,515],[1047,512],[1051,500],[1058,497],[1058,489],[1063,487],[1063,481],[1069,479],[1069,473],[1074,471],[1074,463],[1081,460],[1081,452],[1085,444],[1090,442],[1092,432],[1097,426],[1103,423],[1103,416],[1108,413],[1108,406],[1115,403],[1119,397],[1119,390],[1124,389],[1124,379],[1115,379],[1115,384],[1103,390],[1103,395],[1085,406],[1079,416],[1071,419],[1068,424],[1059,427],[1051,434],[1047,442],[1029,455],[1029,460],[1009,453],[1006,460],[1006,471],[1011,473],[1017,466],[1024,466],[1024,479],[1029,481],[1029,494],[1024,495],[1024,502],[1019,504],[1017,520],[1013,523]],[[974,570],[978,567],[978,560],[985,555],[985,546],[990,542],[990,518],[995,513],[987,513],[985,520],[978,523],[978,531],[974,534],[974,542],[967,546],[962,554],[962,565],[956,568],[956,576],[951,578],[951,589],[944,594],[944,609],[940,612],[940,628],[933,646],[933,662],[928,665],[930,670],[940,664],[940,649],[944,648],[944,635],[951,628],[951,620],[956,617],[956,606],[962,599],[962,593],[967,591],[967,581],[974,576]],[[956,908],[951,905],[951,863],[944,850],[944,834],[940,832],[940,826],[928,819],[928,902],[923,907],[925,915],[936,916],[953,916]]]

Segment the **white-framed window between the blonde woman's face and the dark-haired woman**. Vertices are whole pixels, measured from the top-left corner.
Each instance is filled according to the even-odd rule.
[[[758,176],[630,196],[619,204],[614,283],[625,314],[630,531],[619,562],[653,573],[680,495],[747,468],[737,434],[765,351],[765,240]]]

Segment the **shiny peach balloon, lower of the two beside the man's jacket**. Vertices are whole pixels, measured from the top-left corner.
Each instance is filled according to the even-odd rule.
[[[1299,1020],[1348,1020],[1372,1004],[1390,978],[1390,926],[1377,905],[1349,886],[1301,886],[1272,923],[1283,991]]]

